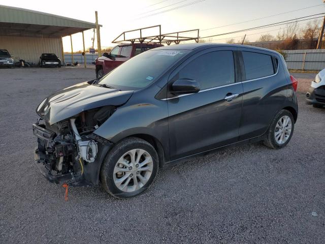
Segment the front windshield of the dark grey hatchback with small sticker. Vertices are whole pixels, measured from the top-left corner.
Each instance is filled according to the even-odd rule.
[[[121,90],[144,88],[163,74],[188,50],[150,50],[143,52],[104,76],[99,84],[106,84]]]

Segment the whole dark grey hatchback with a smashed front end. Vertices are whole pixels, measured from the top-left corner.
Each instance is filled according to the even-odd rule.
[[[298,115],[283,57],[228,44],[155,48],[44,99],[33,125],[52,182],[136,196],[158,168],[239,142],[284,147]]]

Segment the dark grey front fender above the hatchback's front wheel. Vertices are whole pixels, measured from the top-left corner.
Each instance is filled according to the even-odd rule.
[[[164,145],[165,155],[169,155],[168,104],[152,94],[135,94],[93,133],[113,143],[136,134],[149,135]]]

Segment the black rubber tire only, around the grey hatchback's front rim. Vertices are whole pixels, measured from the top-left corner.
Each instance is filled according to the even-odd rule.
[[[117,161],[122,157],[125,153],[132,149],[143,149],[150,154],[153,161],[152,173],[146,182],[146,184],[141,187],[139,190],[134,192],[124,192],[117,188],[113,179],[113,172]],[[158,155],[154,147],[147,141],[142,140],[137,137],[129,137],[123,139],[119,143],[117,143],[112,150],[105,157],[102,168],[101,168],[101,182],[102,187],[107,191],[110,195],[115,198],[125,199],[137,196],[144,191],[146,191],[153,183],[154,178],[158,172]]]

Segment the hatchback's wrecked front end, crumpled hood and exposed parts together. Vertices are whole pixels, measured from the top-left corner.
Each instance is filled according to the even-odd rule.
[[[38,138],[35,159],[42,174],[56,184],[99,184],[101,165],[111,142],[94,132],[133,95],[133,91],[92,83],[59,90],[36,109],[41,118],[32,125]]]

